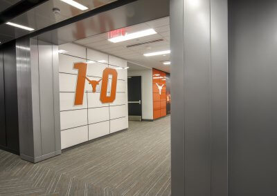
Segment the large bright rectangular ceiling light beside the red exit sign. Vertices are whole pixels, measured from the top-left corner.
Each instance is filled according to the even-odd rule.
[[[124,36],[121,35],[121,36],[114,37],[114,38],[111,38],[111,39],[108,39],[108,40],[113,42],[113,43],[118,43],[120,41],[127,41],[127,40],[130,40],[130,39],[136,39],[136,38],[139,38],[139,37],[145,37],[145,36],[154,35],[154,34],[157,34],[157,32],[154,29],[150,28],[148,30],[141,30],[141,31],[138,31],[138,32],[126,33]]]

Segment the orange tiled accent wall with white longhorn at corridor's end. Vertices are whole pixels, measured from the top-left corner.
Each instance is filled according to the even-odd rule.
[[[153,81],[153,119],[166,116],[166,72],[153,69],[152,71]],[[159,88],[157,86],[163,85],[161,89],[161,95],[159,94]]]

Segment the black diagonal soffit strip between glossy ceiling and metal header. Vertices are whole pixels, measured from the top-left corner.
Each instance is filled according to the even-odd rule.
[[[35,36],[40,35],[40,34],[42,34],[44,32],[55,30],[57,28],[61,28],[63,26],[69,25],[71,23],[75,23],[77,21],[81,21],[83,19],[87,19],[89,17],[93,17],[94,15],[100,14],[101,12],[107,12],[109,10],[118,8],[120,6],[124,6],[127,3],[132,3],[134,1],[138,1],[138,0],[118,0],[118,1],[114,1],[112,3],[109,3],[109,4],[105,5],[105,6],[101,6],[99,8],[90,10],[88,12],[84,12],[83,14],[79,14],[79,15],[77,15],[75,17],[71,17],[70,19],[66,19],[66,20],[61,21],[59,23],[55,23],[55,24],[53,24],[51,26],[48,26],[46,28],[42,28],[41,30],[37,30],[36,32],[30,33],[30,37],[35,37]]]

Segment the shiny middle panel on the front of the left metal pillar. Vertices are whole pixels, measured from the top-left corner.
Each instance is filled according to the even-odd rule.
[[[53,100],[53,48],[39,41],[39,99],[42,154],[55,152],[55,117]]]

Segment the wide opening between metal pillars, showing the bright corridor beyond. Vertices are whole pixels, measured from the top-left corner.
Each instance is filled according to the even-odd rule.
[[[111,41],[147,30],[154,33]],[[85,175],[89,183],[102,179],[101,187],[118,194],[170,195],[169,37],[169,17],[164,17],[59,46],[63,154],[84,150],[87,166],[78,171],[93,167]],[[73,104],[80,77],[76,63],[87,65],[81,105]],[[117,73],[116,89],[114,101],[105,103],[108,69]],[[107,78],[107,97],[114,77]],[[98,81],[94,91],[91,81]]]

